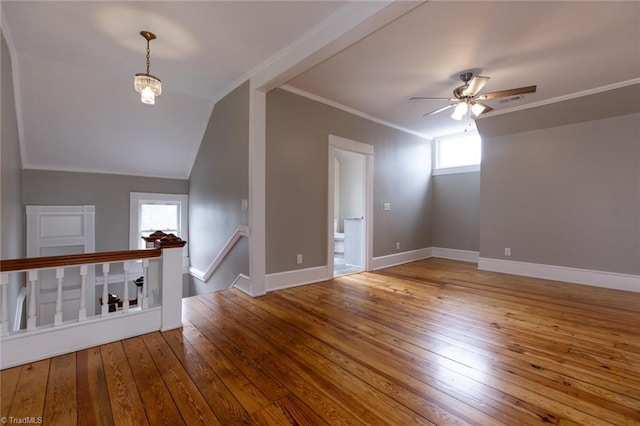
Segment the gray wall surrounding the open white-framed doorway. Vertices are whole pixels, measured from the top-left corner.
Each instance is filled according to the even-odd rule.
[[[327,264],[329,134],[374,146],[374,257],[396,253],[396,241],[400,251],[431,246],[429,142],[276,89],[267,94],[267,273]]]

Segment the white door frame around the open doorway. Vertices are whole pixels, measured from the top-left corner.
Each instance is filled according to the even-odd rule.
[[[334,277],[333,264],[333,221],[335,207],[335,158],[336,150],[349,151],[365,156],[364,193],[364,270],[370,271],[373,264],[373,145],[329,135],[329,176],[327,200],[327,269],[329,278]]]

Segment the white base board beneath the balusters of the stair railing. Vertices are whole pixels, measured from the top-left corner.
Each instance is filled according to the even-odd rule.
[[[4,336],[0,345],[0,368],[15,367],[158,331],[162,322],[161,313],[160,307],[153,307]]]

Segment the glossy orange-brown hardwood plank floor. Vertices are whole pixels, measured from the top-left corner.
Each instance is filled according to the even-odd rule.
[[[50,425],[640,424],[640,294],[428,259],[1,372]]]

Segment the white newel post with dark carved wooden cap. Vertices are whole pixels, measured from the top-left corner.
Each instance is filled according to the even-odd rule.
[[[161,331],[182,327],[182,251],[186,241],[173,234],[155,241],[162,249],[162,324]]]

